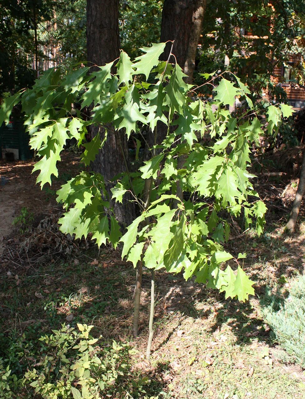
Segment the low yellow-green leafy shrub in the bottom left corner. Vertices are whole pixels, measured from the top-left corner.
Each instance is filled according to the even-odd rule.
[[[52,330],[39,338],[40,347],[33,341],[27,346],[22,340],[12,343],[13,356],[7,348],[9,358],[0,358],[0,397],[98,399],[126,392],[143,397],[147,383],[131,371],[132,350],[115,341],[99,345],[100,340],[90,335],[92,328],[78,324],[78,330],[69,326]]]

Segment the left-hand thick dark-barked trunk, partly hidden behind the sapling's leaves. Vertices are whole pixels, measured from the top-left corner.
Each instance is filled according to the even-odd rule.
[[[119,0],[87,0],[87,60],[89,65],[103,66],[120,55]],[[91,128],[92,138],[104,129]],[[126,171],[128,165],[128,146],[124,132],[114,132],[109,126],[107,140],[92,162],[92,170],[104,176],[110,193],[114,176]],[[116,219],[122,226],[133,220],[132,204],[113,203]]]

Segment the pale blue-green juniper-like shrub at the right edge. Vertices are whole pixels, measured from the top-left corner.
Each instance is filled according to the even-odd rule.
[[[305,275],[295,278],[290,292],[270,290],[261,298],[263,317],[272,338],[291,356],[289,360],[305,368]]]

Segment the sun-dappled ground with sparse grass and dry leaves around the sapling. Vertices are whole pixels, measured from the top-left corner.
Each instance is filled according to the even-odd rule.
[[[60,214],[55,191],[78,170],[77,156],[67,152],[59,178],[42,191],[31,175],[32,162],[0,161],[0,232],[5,237],[0,257],[0,323],[4,328],[0,340],[12,331],[34,341],[37,334],[46,334],[61,323],[93,324],[94,336],[102,334],[106,341],[125,342],[137,350],[133,367],[149,377],[148,398],[305,398],[305,373],[281,361],[282,350],[271,339],[260,303],[267,286],[289,290],[290,279],[304,271],[304,215],[295,235],[284,231],[296,190],[293,166],[299,154],[296,149],[291,158],[282,153],[257,162],[255,188],[268,207],[265,233],[259,238],[251,230],[242,234],[235,223],[226,244],[228,251],[247,253],[243,269],[255,281],[255,296],[245,304],[225,301],[223,294],[193,280],[157,272],[150,361],[144,357],[148,271],[143,276],[140,336],[134,339],[132,265],[121,261],[118,250],[97,251],[84,239],[76,245],[54,227]],[[12,226],[23,207],[28,231]]]

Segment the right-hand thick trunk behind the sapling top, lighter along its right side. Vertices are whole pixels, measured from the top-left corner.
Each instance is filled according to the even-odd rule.
[[[207,0],[165,0],[162,10],[160,41],[175,40],[173,53],[177,63],[193,80],[195,55],[202,30]],[[169,56],[171,43],[167,43],[164,59]]]

